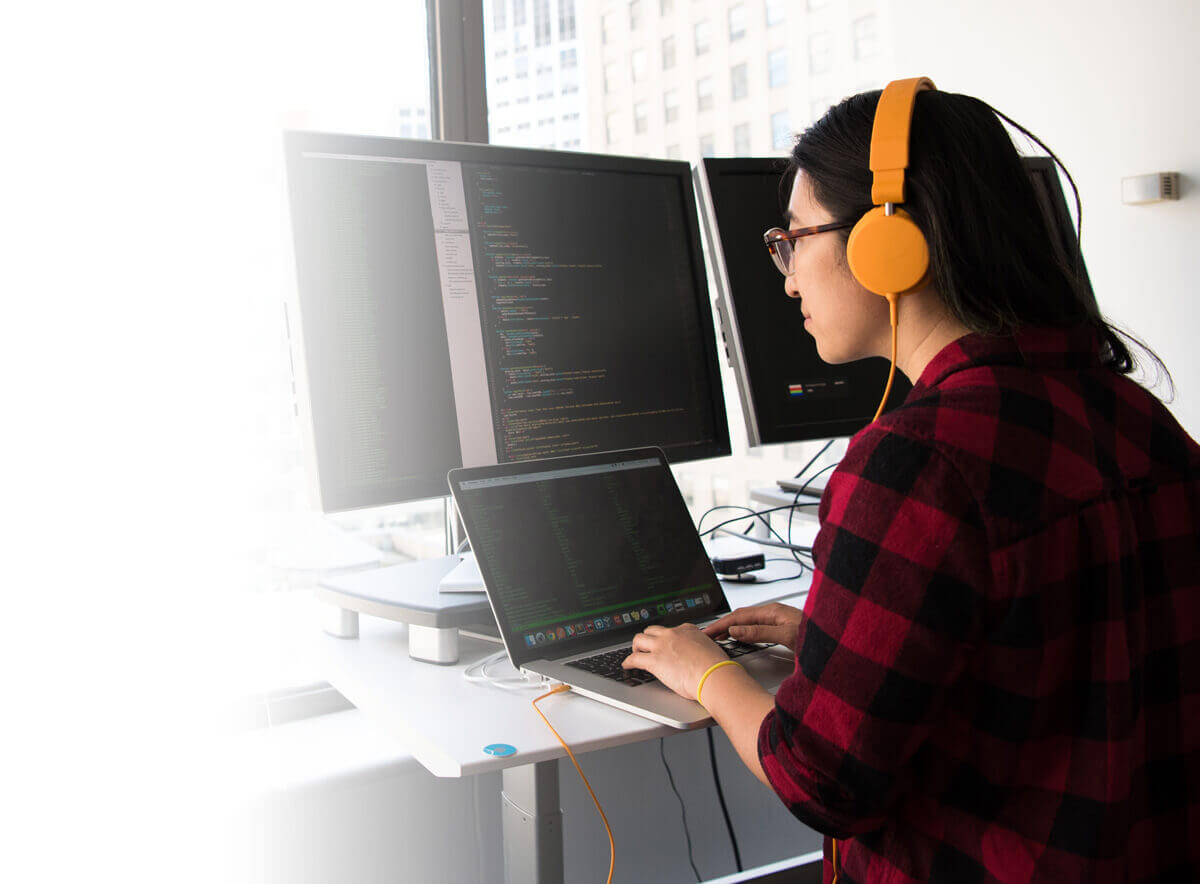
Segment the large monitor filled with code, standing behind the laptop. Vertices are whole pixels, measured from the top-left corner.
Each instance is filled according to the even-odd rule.
[[[325,511],[445,494],[461,465],[730,452],[686,163],[312,132],[286,146]]]

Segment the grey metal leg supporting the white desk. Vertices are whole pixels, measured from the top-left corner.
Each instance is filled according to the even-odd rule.
[[[558,762],[535,762],[502,772],[504,880],[559,884],[563,880],[563,808]]]

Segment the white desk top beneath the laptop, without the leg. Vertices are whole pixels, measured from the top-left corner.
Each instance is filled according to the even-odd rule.
[[[726,595],[734,608],[784,600],[802,607],[809,581],[805,575],[762,587],[726,584]],[[403,624],[364,617],[359,638],[320,638],[329,681],[436,776],[470,776],[566,754],[529,705],[538,691],[463,679],[463,669],[494,654],[497,644],[463,636],[458,663],[436,666],[408,656]],[[494,673],[505,669],[511,673],[506,662],[497,663]],[[680,733],[570,692],[539,708],[577,753]],[[484,746],[493,742],[515,746],[516,754],[486,754]]]

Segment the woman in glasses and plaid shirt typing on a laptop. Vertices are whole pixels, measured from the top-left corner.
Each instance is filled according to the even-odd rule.
[[[791,160],[778,263],[829,362],[892,354],[846,257],[878,101]],[[804,612],[650,626],[625,666],[700,688],[829,836],[826,880],[1200,880],[1200,447],[1126,377],[996,112],[920,92],[908,152],[931,265],[896,313],[913,390],[828,482]],[[775,697],[715,666],[725,635],[796,653]]]

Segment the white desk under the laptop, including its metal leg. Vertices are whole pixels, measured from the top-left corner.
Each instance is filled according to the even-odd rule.
[[[787,600],[803,606],[810,577],[756,584],[726,584],[732,607]],[[437,776],[502,771],[505,880],[563,879],[562,811],[557,759],[563,747],[529,702],[535,691],[502,691],[463,679],[470,663],[498,645],[463,637],[455,666],[434,666],[408,655],[408,627],[364,618],[358,638],[323,636],[329,681]],[[575,693],[539,704],[576,754],[656,739],[678,732]],[[484,746],[516,747],[508,758]]]

